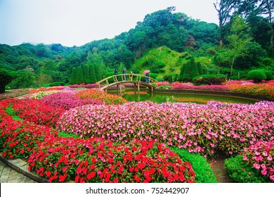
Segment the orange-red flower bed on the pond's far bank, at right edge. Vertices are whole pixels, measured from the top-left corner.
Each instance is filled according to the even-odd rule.
[[[274,86],[269,84],[231,84],[228,85],[230,91],[240,94],[250,94],[274,99]]]

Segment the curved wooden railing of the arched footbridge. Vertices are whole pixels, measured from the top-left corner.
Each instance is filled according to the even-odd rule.
[[[157,80],[147,77],[145,75],[140,74],[121,74],[121,75],[112,75],[110,77],[106,77],[103,80],[100,80],[96,82],[98,84],[99,88],[101,88],[101,85],[111,86],[112,84],[119,84],[119,83],[138,83],[138,82],[146,82],[145,78],[148,78],[148,84],[152,85],[153,83],[157,82]]]

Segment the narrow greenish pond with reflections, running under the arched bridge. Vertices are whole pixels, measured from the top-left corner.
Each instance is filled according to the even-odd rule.
[[[117,91],[107,90],[109,94],[117,94]],[[220,95],[209,95],[209,94],[167,94],[167,93],[148,93],[145,89],[141,90],[138,94],[134,90],[122,91],[120,94],[126,99],[126,101],[152,101],[154,103],[198,103],[205,104],[208,101],[221,101],[224,103],[256,103],[258,100],[251,98],[242,98],[237,96],[220,96]]]

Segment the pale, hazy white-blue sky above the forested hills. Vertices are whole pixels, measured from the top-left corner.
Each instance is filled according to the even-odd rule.
[[[81,46],[128,32],[145,15],[176,12],[218,24],[216,0],[0,0],[0,44]]]

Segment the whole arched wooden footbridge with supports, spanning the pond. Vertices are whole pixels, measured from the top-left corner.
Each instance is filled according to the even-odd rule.
[[[137,88],[138,92],[140,91],[140,85],[143,85],[145,87],[148,87],[150,91],[153,91],[156,87],[155,82],[157,80],[147,77],[145,75],[139,75],[139,74],[122,74],[122,75],[113,75],[110,77],[106,77],[103,80],[100,80],[99,82],[96,82],[98,84],[100,89],[103,89],[107,91],[108,88],[117,85],[117,90],[121,91],[121,84],[125,83],[133,83],[135,89]]]

